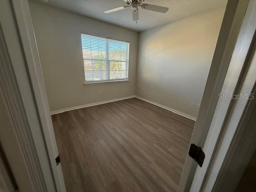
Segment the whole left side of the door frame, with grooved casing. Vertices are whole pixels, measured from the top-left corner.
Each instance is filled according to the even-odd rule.
[[[0,23],[9,55],[1,70],[1,96],[17,120],[15,131],[34,189],[65,192],[28,1],[1,0]]]

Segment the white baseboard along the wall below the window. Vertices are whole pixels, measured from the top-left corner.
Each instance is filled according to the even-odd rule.
[[[71,111],[71,110],[75,110],[75,109],[81,109],[81,108],[101,105],[101,104],[105,104],[105,103],[111,103],[111,102],[125,100],[125,99],[130,99],[130,98],[134,98],[134,97],[135,97],[135,95],[131,95],[131,96],[128,96],[128,97],[121,97],[121,98],[116,98],[116,99],[111,99],[111,100],[106,100],[106,101],[89,103],[89,104],[85,104],[85,105],[80,105],[80,106],[75,106],[75,107],[70,107],[70,108],[65,108],[65,109],[51,111],[50,114],[54,115],[54,114],[63,113],[63,112],[66,112],[66,111]]]

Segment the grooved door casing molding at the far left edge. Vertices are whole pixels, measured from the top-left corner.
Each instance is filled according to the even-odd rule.
[[[31,127],[26,117],[20,96],[17,79],[14,76],[12,61],[10,60],[8,48],[2,25],[0,24],[0,97],[5,102],[6,109],[12,120],[13,132],[20,145],[23,159],[27,165],[30,180],[36,192],[47,191],[46,182],[42,172],[42,167],[34,144]]]

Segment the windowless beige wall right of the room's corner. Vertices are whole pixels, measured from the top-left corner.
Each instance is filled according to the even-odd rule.
[[[136,95],[196,117],[223,15],[219,8],[141,32]]]

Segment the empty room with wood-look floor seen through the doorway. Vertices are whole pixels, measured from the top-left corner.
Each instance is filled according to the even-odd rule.
[[[226,3],[29,1],[66,191],[177,191]]]

